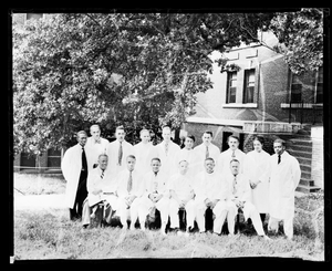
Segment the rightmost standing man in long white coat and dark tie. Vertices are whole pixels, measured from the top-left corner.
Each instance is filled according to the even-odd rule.
[[[270,219],[268,229],[278,232],[279,221],[283,220],[287,238],[293,237],[294,191],[301,178],[301,169],[295,157],[286,152],[286,143],[276,139],[271,158],[270,176]]]

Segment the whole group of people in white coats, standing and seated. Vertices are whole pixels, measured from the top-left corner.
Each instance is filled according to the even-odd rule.
[[[301,170],[298,160],[286,152],[284,142],[276,139],[274,155],[262,150],[262,138],[253,140],[253,150],[245,154],[239,138],[229,136],[229,148],[220,153],[211,143],[212,133],[203,133],[203,143],[194,148],[195,137],[186,136],[184,148],[172,140],[172,129],[163,127],[163,142],[154,146],[148,129],[141,131],[142,142],[133,146],[125,140],[123,126],[116,127],[116,140],[101,137],[98,125],[77,133],[77,144],[62,159],[66,180],[66,206],[71,219],[82,218],[87,226],[98,206],[103,219],[111,222],[116,211],[124,229],[134,229],[138,220],[145,230],[147,216],[160,212],[163,234],[166,225],[179,229],[179,210],[185,210],[186,233],[197,222],[206,231],[207,209],[214,213],[212,231],[221,233],[227,219],[229,234],[235,234],[238,211],[251,219],[258,236],[269,213],[269,231],[278,232],[283,220],[286,236],[293,236],[294,190]],[[180,233],[180,231],[178,231]]]

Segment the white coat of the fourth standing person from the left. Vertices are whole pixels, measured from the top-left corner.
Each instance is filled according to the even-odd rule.
[[[151,142],[147,144],[141,142],[134,146],[134,155],[135,168],[143,175],[151,171],[151,160],[156,156],[155,146]]]

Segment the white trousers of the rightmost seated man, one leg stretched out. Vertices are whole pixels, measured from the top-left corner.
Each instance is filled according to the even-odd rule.
[[[238,208],[237,208],[236,204],[231,200],[227,201],[227,206],[228,206],[227,209],[229,212],[229,219],[227,217],[228,231],[229,231],[229,233],[234,234],[235,233],[235,218],[238,213]],[[245,220],[247,220],[248,218],[251,218],[251,221],[252,221],[252,225],[253,225],[253,228],[255,228],[257,234],[264,236],[266,233],[262,228],[262,222],[261,222],[259,212],[256,209],[255,205],[252,205],[249,201],[245,202],[242,211],[243,211]]]

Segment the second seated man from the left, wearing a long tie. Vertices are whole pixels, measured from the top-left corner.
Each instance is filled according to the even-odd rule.
[[[127,211],[129,209],[131,230],[135,229],[135,222],[138,217],[138,207],[141,197],[144,194],[144,180],[135,169],[136,158],[128,155],[126,158],[126,169],[118,173],[116,177],[117,209],[116,213],[124,229],[127,229]],[[144,222],[139,221],[144,229]]]

